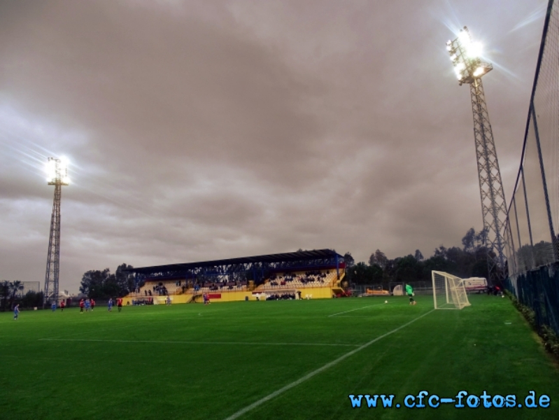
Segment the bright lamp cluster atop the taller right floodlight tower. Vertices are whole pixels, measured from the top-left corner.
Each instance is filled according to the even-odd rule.
[[[474,83],[477,78],[493,69],[491,64],[481,62],[481,44],[474,43],[468,28],[460,30],[454,41],[446,42],[446,50],[451,56],[458,83]]]

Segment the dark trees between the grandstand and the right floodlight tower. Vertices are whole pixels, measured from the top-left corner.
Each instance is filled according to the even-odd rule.
[[[390,260],[385,253],[376,250],[368,263],[357,262],[351,253],[344,255],[346,280],[354,284],[379,284],[388,288],[393,282],[431,281],[431,271],[448,272],[460,278],[485,277],[488,279],[486,230],[467,231],[462,238],[462,248],[443,245],[434,250],[430,258],[424,258],[420,250],[412,255]]]

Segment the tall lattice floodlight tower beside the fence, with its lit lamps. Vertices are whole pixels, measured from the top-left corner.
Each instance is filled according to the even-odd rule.
[[[472,41],[467,27],[460,30],[458,38],[446,43],[451,55],[458,83],[469,84],[474,113],[474,137],[476,143],[479,192],[483,229],[486,233],[488,272],[490,279],[503,280],[505,276],[504,221],[507,218],[507,202],[501,181],[493,130],[489,122],[486,98],[483,93],[481,77],[493,69],[489,63],[480,59],[481,46]]]

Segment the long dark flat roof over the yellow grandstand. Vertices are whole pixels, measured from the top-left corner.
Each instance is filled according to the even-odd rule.
[[[241,258],[228,258],[227,260],[213,260],[201,262],[181,262],[178,264],[169,265],[154,265],[151,267],[137,267],[126,270],[127,272],[135,272],[141,274],[150,274],[157,271],[175,271],[194,269],[199,267],[214,267],[215,265],[234,265],[234,264],[250,264],[251,262],[289,262],[289,261],[304,261],[304,260],[317,260],[320,258],[344,258],[336,251],[331,249],[314,249],[313,251],[297,251],[288,253],[278,253],[269,255],[255,255],[253,257]]]

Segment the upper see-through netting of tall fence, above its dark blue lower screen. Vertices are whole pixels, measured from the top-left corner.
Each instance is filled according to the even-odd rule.
[[[549,1],[528,110],[521,165],[509,204],[509,276],[559,260],[559,7]]]

